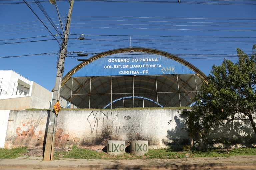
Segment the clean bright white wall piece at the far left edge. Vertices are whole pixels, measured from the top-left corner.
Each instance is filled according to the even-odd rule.
[[[0,110],[0,148],[4,148],[9,113],[9,110]]]

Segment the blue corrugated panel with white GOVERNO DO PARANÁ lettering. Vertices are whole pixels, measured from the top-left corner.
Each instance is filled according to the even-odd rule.
[[[156,54],[129,52],[112,54],[94,60],[74,73],[72,77],[162,74],[195,74],[195,72],[171,58]]]

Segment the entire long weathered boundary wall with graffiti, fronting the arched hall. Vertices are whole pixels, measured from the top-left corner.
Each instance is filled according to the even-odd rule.
[[[49,112],[0,110],[3,122],[1,129],[3,131],[4,126],[7,129],[6,137],[1,135],[0,143],[4,140],[5,148],[43,148]],[[109,140],[124,140],[126,146],[128,141],[148,140],[149,149],[167,145],[181,148],[189,145],[189,137],[182,130],[185,123],[180,113],[181,110],[172,109],[61,110],[58,114],[55,147],[77,145],[104,148]],[[195,146],[202,146],[202,141],[198,141]],[[255,144],[256,136],[247,122],[233,122],[216,128],[207,141],[212,147],[250,146]]]

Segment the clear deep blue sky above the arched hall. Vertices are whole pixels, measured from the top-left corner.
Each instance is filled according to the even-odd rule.
[[[53,35],[62,33],[54,5],[46,0],[38,5],[25,2]],[[14,70],[51,90],[61,37],[52,36],[25,2],[0,1],[0,70]],[[64,25],[69,1],[56,5]],[[79,64],[77,52],[90,57],[130,45],[175,54],[208,75],[224,58],[236,62],[236,48],[251,54],[256,44],[255,9],[252,0],[75,0],[64,75]],[[86,39],[79,40],[80,34]]]

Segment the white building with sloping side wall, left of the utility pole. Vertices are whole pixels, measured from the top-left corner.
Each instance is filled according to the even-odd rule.
[[[0,70],[0,110],[49,109],[52,92],[13,70]]]

